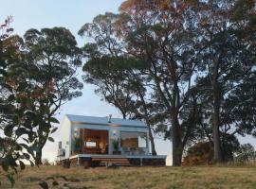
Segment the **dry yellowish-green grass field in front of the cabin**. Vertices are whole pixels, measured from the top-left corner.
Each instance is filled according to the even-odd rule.
[[[68,181],[60,178],[65,176]],[[27,167],[17,177],[14,188],[41,188],[38,183],[56,177],[59,186],[70,188],[256,188],[256,166],[219,167],[105,167],[64,169],[60,166]],[[52,184],[52,180],[48,180]],[[9,188],[9,183],[2,183]],[[52,188],[52,187],[50,187]]]

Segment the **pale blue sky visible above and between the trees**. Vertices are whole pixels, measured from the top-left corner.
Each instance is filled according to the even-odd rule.
[[[29,28],[41,29],[44,27],[64,26],[76,37],[82,46],[85,39],[78,36],[77,32],[85,23],[92,22],[93,18],[106,11],[118,12],[123,0],[0,0],[0,23],[7,16],[13,17],[11,26],[19,35]],[[121,118],[120,113],[109,104],[101,101],[101,97],[94,94],[94,87],[84,84],[82,96],[73,99],[61,108],[56,117],[62,121],[64,114],[80,114],[107,116]],[[57,142],[60,140],[59,129],[52,135],[55,142],[47,142],[43,150],[43,158],[54,161],[57,155]],[[252,143],[256,146],[256,140],[251,137],[240,138],[242,143]],[[172,144],[155,136],[155,147],[158,154],[168,155],[168,163],[171,162]]]

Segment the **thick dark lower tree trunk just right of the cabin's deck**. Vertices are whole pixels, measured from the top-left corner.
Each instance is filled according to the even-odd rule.
[[[172,119],[172,139],[173,139],[173,166],[180,166],[182,160],[182,142],[179,134],[177,118]]]

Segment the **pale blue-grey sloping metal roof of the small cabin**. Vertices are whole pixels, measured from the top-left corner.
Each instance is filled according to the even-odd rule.
[[[97,117],[97,116],[84,116],[84,115],[65,115],[71,122],[78,124],[91,124],[91,125],[105,125],[105,126],[126,126],[126,127],[141,127],[145,128],[147,125],[142,121],[131,120],[131,119],[120,119],[120,118],[111,118],[111,123],[108,122],[106,117]]]

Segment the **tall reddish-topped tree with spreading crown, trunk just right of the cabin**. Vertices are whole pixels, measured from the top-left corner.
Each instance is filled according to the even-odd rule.
[[[184,25],[193,22],[195,13],[183,2],[178,6],[170,2],[164,9],[158,1],[124,4],[119,15],[99,15],[82,27],[80,34],[93,40],[84,48],[88,58],[83,69],[85,81],[98,86],[97,93],[124,118],[130,113],[130,118],[144,120],[173,140],[174,163],[179,163],[183,144],[191,140],[194,131],[193,127],[187,129],[190,123],[177,120],[183,122],[179,113],[185,110],[197,63],[196,32],[193,26]],[[97,62],[101,62],[97,68],[110,69],[93,69]],[[97,75],[95,70],[100,70]],[[104,77],[107,71],[109,76]]]

